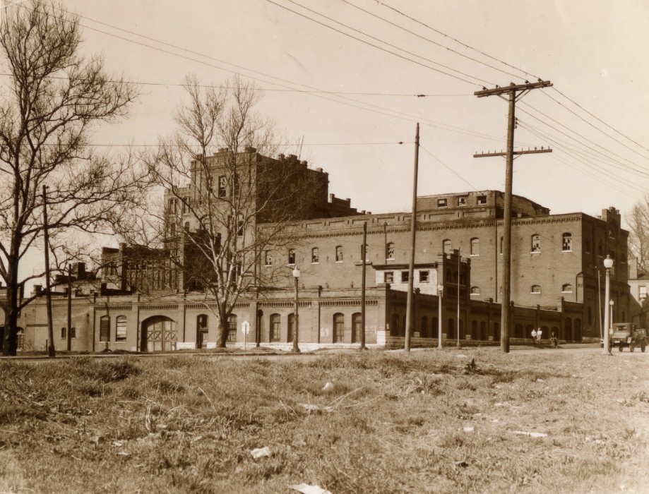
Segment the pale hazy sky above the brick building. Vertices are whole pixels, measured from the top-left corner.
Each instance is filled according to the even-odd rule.
[[[329,172],[330,193],[361,210],[408,211],[416,122],[419,195],[504,190],[504,158],[472,155],[504,150],[508,104],[473,92],[542,78],[554,87],[518,103],[516,147],[554,152],[516,159],[513,192],[590,215],[624,215],[645,195],[644,0],[63,5],[82,16],[84,50],[143,83],[129,120],[98,129],[98,144],[154,144],[172,129],[187,73],[215,85],[239,73],[265,89],[261,112],[303,140],[296,154]]]

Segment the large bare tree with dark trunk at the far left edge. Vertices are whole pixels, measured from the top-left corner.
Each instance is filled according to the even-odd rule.
[[[20,293],[35,273],[20,278],[30,248],[44,228],[109,231],[131,209],[143,171],[131,155],[110,159],[88,144],[97,123],[126,116],[136,88],[103,69],[99,56],[79,52],[78,18],[42,0],[15,4],[0,29],[9,77],[0,101],[0,275],[4,354],[16,354]],[[42,195],[47,186],[47,197]],[[47,205],[48,224],[42,221]]]

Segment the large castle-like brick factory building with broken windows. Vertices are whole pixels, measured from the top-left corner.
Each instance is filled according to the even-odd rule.
[[[225,166],[227,156],[234,158],[236,167]],[[239,264],[232,268],[228,283],[246,279],[248,284],[227,315],[228,344],[288,348],[294,325],[293,267],[299,267],[300,273],[300,348],[357,344],[363,330],[366,224],[366,341],[370,346],[403,346],[410,212],[359,212],[350,200],[328,193],[326,173],[309,169],[294,156],[270,159],[254,148],[237,154],[220,150],[199,164],[192,165],[192,179],[186,186],[165,193],[164,248],[105,248],[105,264],[96,279],[83,266],[77,270],[71,300],[73,350],[215,347],[219,325],[217,304],[208,289],[212,281],[197,281],[191,274],[191,265],[201,253],[187,239],[205,231],[204,215],[197,215],[193,206],[206,203],[206,193],[222,201],[209,206],[213,209],[233,207],[228,198],[235,193],[254,196],[256,207],[270,202],[269,198],[277,203],[281,198],[275,194],[281,187],[268,193],[270,186],[258,186],[265,171],[268,176],[292,176],[292,183],[304,179],[301,183],[311,187],[306,194],[308,206],[298,208],[290,221],[282,220],[275,237],[281,241],[254,242],[278,224],[273,210],[246,215],[241,207],[230,231],[215,237],[223,248],[228,234],[237,236],[239,244],[254,246],[232,257]],[[238,174],[243,166],[248,171]],[[499,339],[503,216],[500,191],[418,198],[413,345],[436,346],[438,332],[443,339],[463,342]],[[627,237],[613,207],[603,210],[601,217],[580,212],[550,215],[547,208],[515,196],[511,336],[528,338],[532,329],[540,327],[544,338],[554,330],[568,341],[599,339],[606,255],[615,262],[611,273],[614,320],[626,320],[630,315]],[[171,253],[177,256],[174,262],[165,260]],[[204,269],[204,264],[198,264]],[[57,349],[66,347],[66,318],[67,297],[61,292],[54,296]],[[41,349],[47,341],[41,299],[23,311],[20,324],[23,348]]]

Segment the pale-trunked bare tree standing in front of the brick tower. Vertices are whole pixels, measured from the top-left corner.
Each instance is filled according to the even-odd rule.
[[[290,275],[270,257],[293,241],[290,222],[320,214],[327,179],[297,157],[268,157],[278,137],[255,111],[254,85],[234,78],[215,90],[188,76],[185,88],[189,103],[174,115],[177,133],[160,140],[149,162],[165,186],[164,245],[184,289],[204,290],[206,305],[215,306],[218,346],[225,347],[240,297]]]

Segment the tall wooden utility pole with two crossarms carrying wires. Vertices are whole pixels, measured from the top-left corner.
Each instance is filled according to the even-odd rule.
[[[514,128],[516,126],[516,101],[525,96],[532,89],[549,88],[552,83],[549,80],[538,80],[537,83],[525,81],[525,84],[511,83],[506,88],[487,89],[476,91],[473,94],[477,97],[499,96],[506,100],[504,95],[508,95],[509,114],[507,124],[507,151],[506,152],[487,152],[475,154],[473,157],[505,156],[505,214],[503,219],[503,296],[501,299],[501,337],[500,347],[505,353],[509,353],[509,335],[511,333],[511,182],[513,176],[513,157],[514,155],[528,155],[537,152],[552,152],[551,149],[514,151]],[[496,219],[494,219],[496,221]],[[496,239],[497,245],[498,239]],[[458,328],[459,329],[459,328]]]

